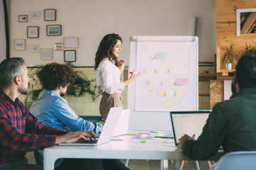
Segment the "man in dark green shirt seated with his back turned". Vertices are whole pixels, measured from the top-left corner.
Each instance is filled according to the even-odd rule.
[[[242,56],[235,71],[233,98],[214,106],[198,140],[188,135],[179,139],[187,157],[208,159],[220,145],[224,153],[256,150],[256,56]]]

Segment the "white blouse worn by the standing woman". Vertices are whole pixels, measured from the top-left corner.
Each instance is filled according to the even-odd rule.
[[[110,60],[103,59],[96,72],[97,89],[100,94],[106,91],[107,94],[124,91],[124,84],[120,82],[120,70]]]

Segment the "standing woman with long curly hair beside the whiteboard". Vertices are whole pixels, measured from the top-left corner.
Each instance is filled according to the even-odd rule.
[[[122,106],[122,95],[124,86],[137,80],[141,74],[132,74],[124,82],[120,81],[120,74],[124,71],[124,60],[117,60],[121,49],[122,38],[118,34],[108,34],[100,41],[95,57],[95,70],[97,89],[102,94],[100,101],[100,115],[102,119],[112,107]]]

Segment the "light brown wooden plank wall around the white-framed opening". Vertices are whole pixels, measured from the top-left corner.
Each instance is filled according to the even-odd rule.
[[[239,8],[256,8],[256,0],[215,0],[216,11],[216,47],[229,45],[231,41],[238,44],[240,50],[245,47],[245,42],[256,41],[256,34],[236,35],[236,9]],[[216,53],[220,58],[217,72],[225,72],[222,59],[224,52]],[[235,67],[235,66],[233,66]],[[232,71],[230,71],[232,72]]]

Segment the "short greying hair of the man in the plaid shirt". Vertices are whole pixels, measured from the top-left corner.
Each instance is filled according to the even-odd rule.
[[[8,58],[0,64],[0,88],[4,89],[11,84],[16,76],[22,76],[25,61],[21,57]]]

